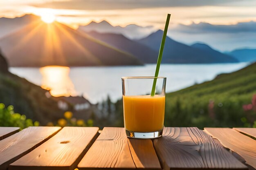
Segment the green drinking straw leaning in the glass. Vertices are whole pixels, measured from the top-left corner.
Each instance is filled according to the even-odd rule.
[[[158,59],[157,59],[157,67],[155,69],[155,77],[158,77],[158,73],[159,73],[159,68],[160,68],[160,64],[162,61],[162,55],[163,55],[163,51],[164,51],[164,43],[165,43],[165,39],[166,39],[166,34],[167,34],[167,30],[168,30],[168,25],[169,25],[169,21],[170,21],[170,17],[171,14],[167,14],[167,19],[165,22],[165,27],[164,27],[164,34],[163,34],[163,38],[162,38],[162,42],[161,42],[161,46],[160,46],[160,51],[159,51],[159,55],[158,55]],[[151,90],[151,96],[155,95],[155,86],[157,84],[157,78],[154,78],[154,82],[153,82],[153,86],[152,86],[152,90]]]

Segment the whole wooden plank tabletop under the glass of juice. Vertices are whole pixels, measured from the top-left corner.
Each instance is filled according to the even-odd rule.
[[[164,128],[151,140],[124,128],[0,127],[0,170],[254,169],[255,139],[256,128]]]

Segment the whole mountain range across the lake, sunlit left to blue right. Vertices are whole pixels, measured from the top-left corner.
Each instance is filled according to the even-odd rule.
[[[156,63],[163,35],[151,27],[91,22],[75,30],[35,15],[0,18],[0,49],[10,66],[115,66]],[[93,31],[92,31],[93,30]],[[139,31],[146,37],[140,38]],[[134,35],[128,38],[128,34]],[[148,35],[148,36],[147,36]],[[136,37],[137,36],[137,37]],[[135,38],[136,37],[136,38]],[[221,53],[207,44],[191,46],[166,38],[162,63],[232,63],[256,60],[255,51]],[[250,56],[246,57],[250,53]],[[232,56],[231,56],[232,55]],[[233,56],[234,55],[234,56]]]

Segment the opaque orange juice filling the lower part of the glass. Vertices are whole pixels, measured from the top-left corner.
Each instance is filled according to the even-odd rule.
[[[124,124],[133,132],[154,132],[164,126],[165,96],[124,96]]]

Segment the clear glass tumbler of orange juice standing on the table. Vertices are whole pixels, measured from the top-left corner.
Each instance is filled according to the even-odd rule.
[[[155,95],[151,96],[157,79]],[[122,77],[124,127],[130,138],[162,136],[164,127],[166,77]]]

